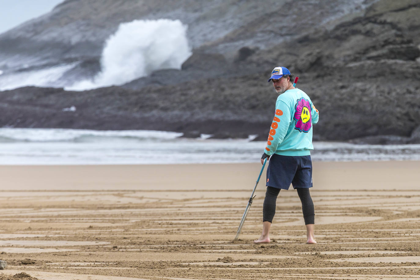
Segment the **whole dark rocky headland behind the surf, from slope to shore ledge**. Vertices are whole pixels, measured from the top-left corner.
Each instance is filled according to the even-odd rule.
[[[27,35],[42,46],[47,38],[57,42],[51,51],[55,59],[83,56],[89,62],[80,71],[93,73],[103,41],[118,23],[181,18],[189,24],[194,50],[181,70],[156,71],[121,87],[3,92],[0,100],[7,106],[0,125],[156,129],[221,138],[259,134],[257,139],[266,139],[277,97],[267,77],[281,65],[300,77],[297,87],[320,111],[315,139],[418,142],[418,1],[162,1],[65,1],[38,19],[45,26],[26,24],[1,35],[0,55],[5,42],[24,42]],[[110,12],[104,14],[105,8]],[[92,21],[84,23],[92,13]],[[70,45],[71,36],[60,39],[81,26],[90,33],[77,37],[74,31]],[[66,32],[58,36],[59,29]],[[72,105],[76,112],[63,112]]]

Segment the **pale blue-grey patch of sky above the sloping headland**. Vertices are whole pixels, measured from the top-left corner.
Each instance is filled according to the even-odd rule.
[[[0,0],[0,34],[51,11],[64,0]]]

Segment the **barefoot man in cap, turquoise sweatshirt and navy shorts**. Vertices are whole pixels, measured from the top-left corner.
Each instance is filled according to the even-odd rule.
[[[278,94],[276,113],[268,135],[261,163],[267,158],[267,191],[262,210],[262,234],[255,243],[269,243],[268,233],[276,213],[276,199],[281,189],[290,184],[302,202],[307,243],[314,238],[315,211],[309,188],[312,187],[312,125],[318,122],[318,110],[302,90],[293,86],[293,75],[285,67],[276,67],[268,82]]]

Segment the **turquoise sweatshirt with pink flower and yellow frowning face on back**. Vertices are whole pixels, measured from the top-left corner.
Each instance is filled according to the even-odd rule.
[[[318,110],[300,89],[289,89],[277,97],[265,153],[284,156],[310,155],[312,125],[318,123]]]

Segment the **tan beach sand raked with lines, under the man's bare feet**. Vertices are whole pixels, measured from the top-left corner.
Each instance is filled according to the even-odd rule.
[[[314,245],[293,189],[252,243],[263,174],[232,242],[260,168],[0,166],[0,280],[420,280],[420,162],[314,162]]]

